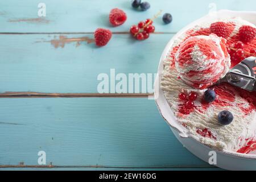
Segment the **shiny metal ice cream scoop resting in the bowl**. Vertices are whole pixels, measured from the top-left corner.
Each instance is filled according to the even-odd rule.
[[[256,91],[256,57],[247,57],[241,63],[232,68],[224,78],[218,81],[228,82],[250,92]]]

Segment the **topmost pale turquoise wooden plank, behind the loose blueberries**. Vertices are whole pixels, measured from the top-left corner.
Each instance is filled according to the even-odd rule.
[[[152,18],[159,10],[174,16],[172,24],[164,25],[161,16],[155,20],[156,31],[177,32],[186,24],[208,14],[212,0],[195,1],[150,1],[151,8],[142,12],[131,8],[130,1],[98,0],[44,0],[46,17],[38,16],[38,1],[0,1],[0,32],[93,32],[98,27],[110,28],[114,32],[128,32],[132,24]],[[255,11],[254,0],[216,0],[217,9]],[[248,6],[250,5],[250,6]],[[127,22],[111,27],[108,15],[118,7],[127,13]]]

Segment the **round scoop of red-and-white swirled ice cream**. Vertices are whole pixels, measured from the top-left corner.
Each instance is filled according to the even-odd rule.
[[[198,89],[205,89],[224,77],[230,68],[230,56],[225,44],[226,40],[215,34],[185,40],[175,55],[179,77]]]

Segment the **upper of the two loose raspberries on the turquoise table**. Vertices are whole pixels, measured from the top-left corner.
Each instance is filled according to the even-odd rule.
[[[110,11],[109,22],[114,27],[125,23],[126,19],[127,19],[127,16],[126,16],[125,11],[117,9],[117,8]]]

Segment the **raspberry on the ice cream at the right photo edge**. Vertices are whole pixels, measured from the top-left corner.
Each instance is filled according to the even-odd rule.
[[[242,42],[245,42],[245,43],[251,42],[251,40],[255,38],[256,29],[254,27],[244,25],[240,27],[238,35],[239,35],[239,39]]]

